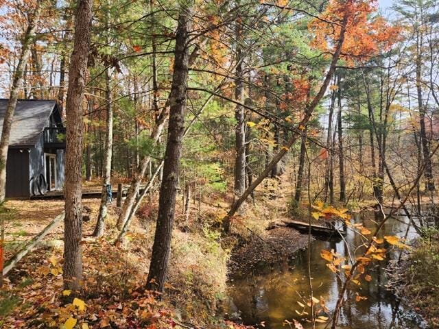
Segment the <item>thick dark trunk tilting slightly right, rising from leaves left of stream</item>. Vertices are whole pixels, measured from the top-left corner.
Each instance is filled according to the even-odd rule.
[[[169,96],[169,126],[163,165],[163,181],[158,200],[158,217],[150,273],[146,288],[162,292],[165,287],[169,254],[171,252],[172,228],[177,195],[182,138],[185,134],[185,110],[187,103],[187,77],[189,73],[189,31],[191,8],[183,4],[178,17],[174,75]]]

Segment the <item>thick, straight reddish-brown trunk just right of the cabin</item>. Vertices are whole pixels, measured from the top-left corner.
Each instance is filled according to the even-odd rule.
[[[82,281],[82,101],[86,84],[92,19],[91,0],[78,0],[75,38],[67,88],[67,145],[64,185],[64,267],[65,289],[79,290]]]

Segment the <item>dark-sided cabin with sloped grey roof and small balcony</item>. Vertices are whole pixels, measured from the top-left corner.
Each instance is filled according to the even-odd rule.
[[[8,99],[0,99],[0,126]],[[19,99],[6,164],[6,197],[30,198],[64,186],[66,130],[54,100]]]

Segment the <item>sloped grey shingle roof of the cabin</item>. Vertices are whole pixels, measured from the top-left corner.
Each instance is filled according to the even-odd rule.
[[[0,99],[0,127],[3,127],[8,99]],[[44,99],[19,99],[16,103],[9,139],[10,147],[34,146],[41,132],[47,127],[56,101]],[[1,134],[1,133],[0,133]]]

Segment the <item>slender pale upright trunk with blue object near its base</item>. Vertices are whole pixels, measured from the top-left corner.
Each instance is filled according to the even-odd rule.
[[[106,94],[106,140],[105,140],[105,162],[104,162],[104,177],[102,178],[102,197],[101,206],[99,207],[99,215],[97,215],[97,222],[93,236],[100,237],[104,235],[105,219],[107,217],[107,203],[108,203],[108,186],[111,180],[111,159],[112,159],[112,95],[111,95],[111,72],[106,69],[105,79],[105,94]]]

